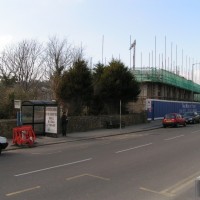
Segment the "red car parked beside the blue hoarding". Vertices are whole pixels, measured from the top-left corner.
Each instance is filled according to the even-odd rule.
[[[179,113],[168,113],[162,120],[163,127],[167,126],[177,127],[179,125],[186,126],[186,120]]]

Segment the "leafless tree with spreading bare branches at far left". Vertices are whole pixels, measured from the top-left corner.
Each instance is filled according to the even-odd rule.
[[[35,40],[24,40],[3,51],[0,73],[2,77],[15,78],[24,91],[37,87],[44,76],[43,47]]]

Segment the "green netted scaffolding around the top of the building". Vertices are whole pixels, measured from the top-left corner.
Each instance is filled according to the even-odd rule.
[[[138,82],[154,82],[171,85],[181,89],[192,91],[200,94],[200,85],[192,80],[179,76],[173,72],[156,68],[140,68],[134,70],[135,78]]]

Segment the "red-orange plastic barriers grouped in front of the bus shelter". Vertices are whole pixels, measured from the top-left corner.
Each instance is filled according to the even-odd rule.
[[[32,126],[19,126],[13,128],[13,144],[32,146],[35,142],[36,136]]]

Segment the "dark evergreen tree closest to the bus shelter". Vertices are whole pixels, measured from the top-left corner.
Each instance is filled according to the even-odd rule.
[[[59,99],[70,104],[73,114],[80,115],[90,105],[93,95],[92,75],[87,62],[78,58],[64,72],[57,91]]]

